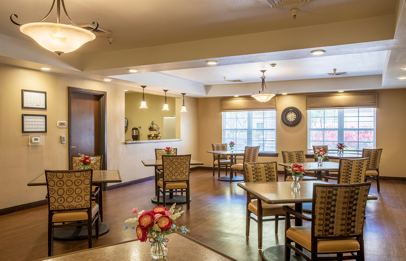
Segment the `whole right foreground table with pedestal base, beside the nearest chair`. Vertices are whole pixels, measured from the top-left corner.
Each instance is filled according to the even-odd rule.
[[[302,204],[311,203],[313,201],[313,184],[326,183],[321,180],[300,181],[300,189],[292,190],[292,181],[268,181],[268,182],[242,182],[237,186],[249,192],[252,196],[258,198],[268,204],[289,204],[294,203],[295,210],[302,213]],[[377,200],[378,197],[368,195],[368,200]],[[302,226],[303,222],[300,218],[295,218],[295,226]],[[296,246],[300,250],[301,246]],[[304,260],[302,257],[295,255],[294,260]],[[262,251],[263,261],[280,261],[285,260],[285,246],[276,245],[266,248]]]

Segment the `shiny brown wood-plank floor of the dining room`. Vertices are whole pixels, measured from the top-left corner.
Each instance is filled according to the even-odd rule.
[[[216,175],[217,176],[217,175]],[[281,180],[282,177],[279,177]],[[209,170],[194,170],[190,179],[190,210],[177,219],[186,225],[190,235],[240,261],[261,260],[257,246],[256,223],[251,221],[251,236],[245,237],[246,195],[237,183],[218,181]],[[35,190],[36,188],[31,188]],[[406,259],[406,182],[381,181],[381,192],[372,183],[370,194],[378,201],[367,204],[365,222],[365,260]],[[150,210],[154,196],[153,181],[104,192],[104,222],[110,231],[97,239],[93,246],[115,244],[136,239],[133,231],[121,231],[131,210]],[[179,205],[186,210],[186,204]],[[47,257],[47,206],[36,207],[0,216],[0,260],[31,261]],[[274,222],[264,223],[263,248],[283,244],[284,222],[274,234]],[[147,242],[145,244],[148,244]],[[53,255],[87,248],[87,241],[54,240]],[[168,244],[168,254],[171,246]]]

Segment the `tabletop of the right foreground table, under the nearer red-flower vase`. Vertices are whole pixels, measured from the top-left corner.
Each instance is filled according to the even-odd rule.
[[[321,180],[300,181],[300,189],[297,191],[292,190],[292,181],[245,182],[238,183],[237,186],[268,204],[285,204],[312,202],[313,183],[329,184]],[[368,195],[368,199],[376,200],[378,197]]]

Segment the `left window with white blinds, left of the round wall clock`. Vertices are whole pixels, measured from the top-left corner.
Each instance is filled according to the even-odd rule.
[[[222,112],[222,142],[235,148],[261,146],[261,152],[276,152],[276,111]]]

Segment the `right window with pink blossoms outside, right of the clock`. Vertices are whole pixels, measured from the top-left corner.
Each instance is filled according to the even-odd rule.
[[[374,149],[376,109],[308,110],[308,142],[335,149],[345,143],[348,150]]]

